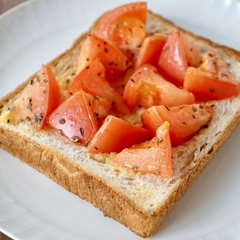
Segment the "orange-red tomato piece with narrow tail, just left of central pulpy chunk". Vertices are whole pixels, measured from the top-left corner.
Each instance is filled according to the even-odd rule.
[[[105,79],[105,68],[99,58],[95,58],[70,83],[68,91],[75,93],[83,89],[93,96],[105,97],[112,103],[114,112],[127,114],[129,110],[123,103],[122,96]]]

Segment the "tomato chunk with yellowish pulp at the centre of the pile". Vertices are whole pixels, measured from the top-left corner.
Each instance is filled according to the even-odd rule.
[[[194,103],[194,95],[166,81],[150,64],[140,67],[129,78],[123,93],[123,100],[130,110],[137,106],[144,108],[153,105],[168,107]]]

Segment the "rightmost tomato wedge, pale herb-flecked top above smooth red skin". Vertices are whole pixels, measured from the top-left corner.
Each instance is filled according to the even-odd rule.
[[[239,95],[239,84],[215,49],[203,57],[199,68],[189,67],[185,73],[184,88],[196,100],[221,100]]]

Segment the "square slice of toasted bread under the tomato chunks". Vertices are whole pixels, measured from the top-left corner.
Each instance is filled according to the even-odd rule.
[[[62,91],[75,77],[79,51],[96,22],[75,40],[71,48],[48,63]],[[169,34],[176,28],[172,22],[149,11],[149,33]],[[201,53],[210,47],[216,48],[240,82],[239,52],[180,30]],[[35,76],[32,75],[0,100],[0,113],[11,106],[15,96]],[[91,202],[105,216],[115,219],[139,236],[149,237],[240,122],[240,96],[209,104],[214,105],[214,113],[208,128],[173,148],[174,176],[169,179],[154,174],[136,174],[113,166],[108,163],[107,154],[97,154],[92,159],[86,148],[71,143],[56,131],[50,128],[38,131],[24,122],[16,125],[0,122],[0,147],[68,191]]]

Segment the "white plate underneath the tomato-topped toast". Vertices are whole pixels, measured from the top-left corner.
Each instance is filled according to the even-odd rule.
[[[126,0],[28,1],[0,16],[0,97]],[[240,2],[152,0],[149,8],[240,50]],[[16,139],[17,141],[17,139]],[[240,127],[150,239],[240,239]],[[14,239],[141,239],[0,150],[0,230]]]

